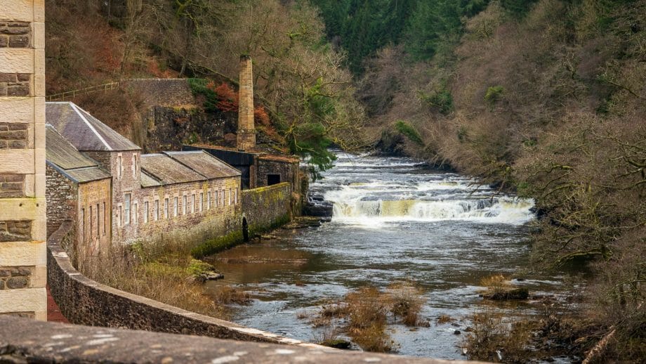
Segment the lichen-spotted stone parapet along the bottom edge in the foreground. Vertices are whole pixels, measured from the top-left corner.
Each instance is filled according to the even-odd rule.
[[[34,323],[24,318],[0,317],[0,337],[3,338],[0,362],[8,363],[467,363],[340,351],[311,344],[297,347],[244,343],[157,332]]]

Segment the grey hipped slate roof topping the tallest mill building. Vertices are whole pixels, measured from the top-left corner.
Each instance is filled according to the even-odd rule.
[[[77,150],[141,149],[74,103],[46,103],[45,110],[46,122],[70,141]]]

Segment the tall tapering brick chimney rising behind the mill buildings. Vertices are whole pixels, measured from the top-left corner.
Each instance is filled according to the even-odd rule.
[[[256,126],[253,125],[253,71],[251,57],[240,56],[240,79],[238,100],[238,150],[256,148]]]

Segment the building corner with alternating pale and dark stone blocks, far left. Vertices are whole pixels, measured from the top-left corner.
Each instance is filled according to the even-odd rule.
[[[44,1],[0,0],[0,314],[46,319]]]

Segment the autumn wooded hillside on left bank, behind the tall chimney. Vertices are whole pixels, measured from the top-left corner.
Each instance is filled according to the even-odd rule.
[[[211,84],[202,94],[225,98],[216,89],[235,88],[239,57],[249,55],[257,106],[270,117],[262,126],[277,131],[282,148],[325,167],[331,143],[364,144],[352,75],[307,1],[55,0],[46,6],[49,94],[127,78],[197,77],[207,78],[197,84]],[[74,101],[126,135],[138,118],[140,100],[127,89]],[[235,119],[236,110],[220,111]]]

